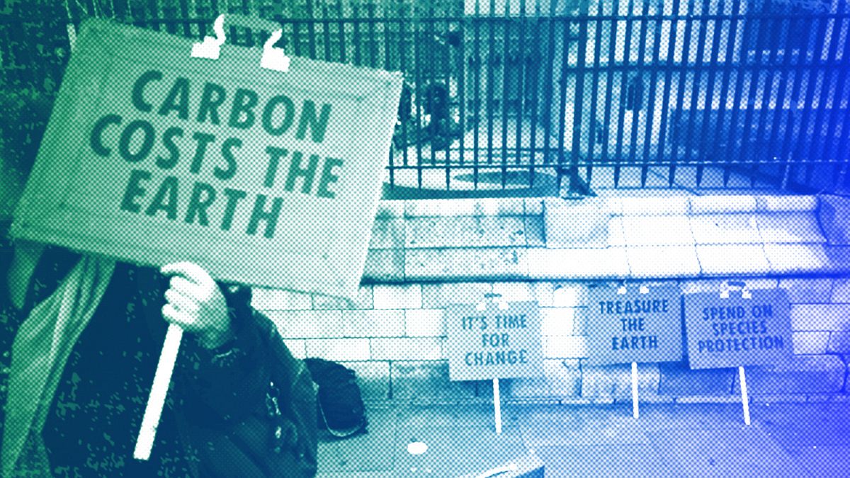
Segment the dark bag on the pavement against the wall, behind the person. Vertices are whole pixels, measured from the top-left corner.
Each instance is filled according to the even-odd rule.
[[[354,370],[320,358],[307,358],[304,363],[319,385],[319,428],[338,438],[366,433],[366,410]]]

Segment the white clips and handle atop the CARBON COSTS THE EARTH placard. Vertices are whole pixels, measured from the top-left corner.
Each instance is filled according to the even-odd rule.
[[[272,71],[289,71],[289,57],[284,54],[283,48],[275,48],[275,43],[283,36],[283,30],[277,28],[274,22],[236,14],[229,14],[227,18],[228,23],[232,25],[269,30],[271,35],[263,44],[263,57],[260,59],[260,68]],[[212,24],[212,31],[215,32],[215,37],[204,37],[203,42],[192,45],[192,58],[218,60],[218,55],[221,54],[221,45],[227,39],[224,34],[224,14],[218,15],[218,18]]]

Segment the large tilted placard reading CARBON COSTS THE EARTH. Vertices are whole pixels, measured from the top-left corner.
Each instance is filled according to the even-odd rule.
[[[400,73],[87,20],[13,234],[223,281],[354,297]]]

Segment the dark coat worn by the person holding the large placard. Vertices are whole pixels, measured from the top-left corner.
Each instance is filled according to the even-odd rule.
[[[20,311],[8,303],[8,260],[0,260],[3,351],[11,350],[28,311],[55,290],[78,258],[48,248]],[[133,459],[133,447],[167,328],[160,313],[167,278],[149,268],[116,265],[65,365],[42,430],[55,475],[315,475],[315,389],[309,372],[269,319],[251,308],[250,289],[219,287],[235,340],[206,350],[184,335],[151,458],[140,462]],[[5,403],[8,353],[2,360]],[[276,416],[269,413],[275,402]]]

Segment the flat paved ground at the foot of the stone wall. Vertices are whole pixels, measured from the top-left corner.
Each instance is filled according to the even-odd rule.
[[[385,405],[369,433],[323,439],[319,477],[477,476],[535,453],[547,477],[850,477],[850,402]],[[421,441],[421,455],[407,451]],[[496,478],[513,476],[496,475]]]

